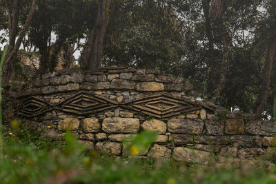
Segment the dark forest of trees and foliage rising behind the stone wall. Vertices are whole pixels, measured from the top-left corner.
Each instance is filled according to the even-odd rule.
[[[31,80],[19,49],[40,57],[38,77],[64,50],[66,70],[75,52],[82,71],[159,69],[188,79],[195,97],[273,116],[276,0],[0,0],[0,13],[4,90]]]

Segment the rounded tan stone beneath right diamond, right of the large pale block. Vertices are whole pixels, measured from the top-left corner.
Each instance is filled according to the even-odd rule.
[[[165,134],[167,130],[167,125],[163,121],[152,119],[146,120],[141,125],[144,130],[150,130],[152,132],[158,132],[159,134]]]

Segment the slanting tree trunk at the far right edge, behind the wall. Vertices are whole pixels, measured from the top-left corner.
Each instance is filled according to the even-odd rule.
[[[266,105],[266,98],[270,86],[270,76],[273,66],[273,58],[276,50],[276,30],[271,34],[268,43],[268,54],[266,56],[266,62],[264,63],[264,70],[262,73],[262,85],[259,91],[259,98],[257,100],[257,108],[255,110],[255,116],[260,117],[264,111],[264,105]]]

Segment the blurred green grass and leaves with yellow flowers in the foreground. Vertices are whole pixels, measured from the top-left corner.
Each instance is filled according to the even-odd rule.
[[[0,183],[275,183],[276,167],[264,161],[244,164],[210,162],[207,166],[168,160],[141,159],[155,140],[155,134],[142,132],[128,147],[128,156],[106,156],[79,145],[66,133],[64,141],[42,136],[43,132],[17,127],[6,130]]]

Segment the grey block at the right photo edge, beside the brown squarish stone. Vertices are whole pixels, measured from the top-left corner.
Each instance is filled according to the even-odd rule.
[[[275,123],[272,121],[248,121],[246,123],[246,133],[273,136],[276,134]]]

